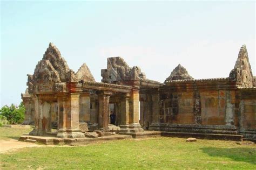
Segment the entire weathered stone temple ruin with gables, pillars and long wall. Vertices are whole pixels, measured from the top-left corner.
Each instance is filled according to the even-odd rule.
[[[35,128],[20,140],[71,145],[98,140],[87,138],[93,134],[87,126],[100,140],[256,139],[256,77],[245,45],[225,78],[195,80],[178,65],[160,83],[146,79],[138,66],[130,67],[121,57],[107,58],[101,75],[102,82],[96,82],[85,63],[73,72],[50,43],[33,75],[28,75],[28,89],[22,94],[24,124]],[[116,113],[116,126],[109,125],[110,110]]]

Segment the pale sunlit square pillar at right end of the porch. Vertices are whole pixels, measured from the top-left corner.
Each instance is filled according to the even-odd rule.
[[[129,115],[130,132],[144,132],[139,124],[139,90],[132,89],[130,97],[130,115]]]

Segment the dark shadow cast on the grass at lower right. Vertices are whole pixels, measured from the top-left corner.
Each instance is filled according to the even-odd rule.
[[[256,164],[256,148],[217,148],[203,147],[200,148],[204,153],[211,157],[230,158],[234,161],[248,162]]]

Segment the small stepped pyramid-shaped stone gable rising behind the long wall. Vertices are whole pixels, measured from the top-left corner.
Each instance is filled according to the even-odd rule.
[[[186,68],[181,66],[180,64],[172,70],[172,73],[169,77],[167,77],[166,81],[170,80],[193,80],[193,77],[191,77],[188,73]]]

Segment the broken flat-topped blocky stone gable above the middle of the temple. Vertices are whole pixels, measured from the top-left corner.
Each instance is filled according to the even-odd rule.
[[[146,79],[138,66],[129,67],[119,56],[107,58],[107,69],[102,69],[102,77],[102,82],[106,83]]]

